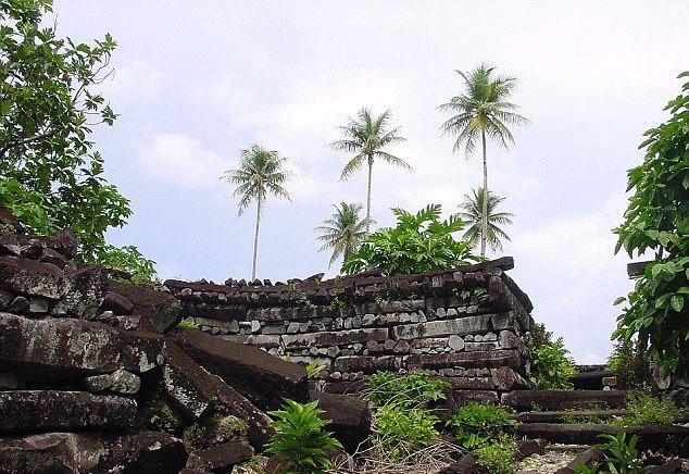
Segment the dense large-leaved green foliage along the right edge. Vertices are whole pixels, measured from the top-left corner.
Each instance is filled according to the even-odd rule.
[[[689,71],[679,75],[689,77]],[[689,82],[665,107],[672,116],[646,132],[643,163],[628,172],[634,190],[615,252],[655,259],[638,277],[614,338],[637,337],[661,365],[689,375]]]

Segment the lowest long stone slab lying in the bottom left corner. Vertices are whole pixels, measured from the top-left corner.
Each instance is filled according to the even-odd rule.
[[[186,462],[181,440],[164,433],[45,433],[0,439],[2,473],[167,474],[178,472]]]

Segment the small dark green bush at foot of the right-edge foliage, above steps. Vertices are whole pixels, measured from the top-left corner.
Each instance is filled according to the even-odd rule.
[[[617,386],[626,390],[649,387],[653,381],[648,354],[631,340],[623,339],[615,345],[607,369],[615,373]]]

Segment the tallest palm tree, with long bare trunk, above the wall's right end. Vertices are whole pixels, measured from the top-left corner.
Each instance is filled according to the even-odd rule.
[[[494,67],[481,64],[471,73],[456,73],[464,79],[465,91],[455,96],[448,103],[439,107],[442,111],[453,113],[442,124],[443,134],[456,135],[452,151],[465,145],[466,155],[476,149],[476,141],[480,138],[484,152],[484,192],[488,191],[488,163],[486,159],[486,136],[496,140],[498,145],[508,148],[514,142],[514,137],[508,125],[527,124],[528,120],[514,113],[518,105],[506,102],[510,92],[516,85],[514,77],[493,76]],[[481,209],[480,254],[486,255],[486,240],[488,239],[488,201],[486,196]]]

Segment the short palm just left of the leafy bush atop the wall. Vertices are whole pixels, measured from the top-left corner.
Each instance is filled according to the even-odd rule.
[[[356,249],[359,242],[365,236],[366,221],[359,219],[362,205],[359,203],[340,202],[333,204],[335,214],[330,219],[323,221],[323,225],[315,228],[322,234],[318,240],[323,241],[323,247],[318,251],[333,249],[333,257],[328,267],[341,255],[347,262],[349,255]]]

